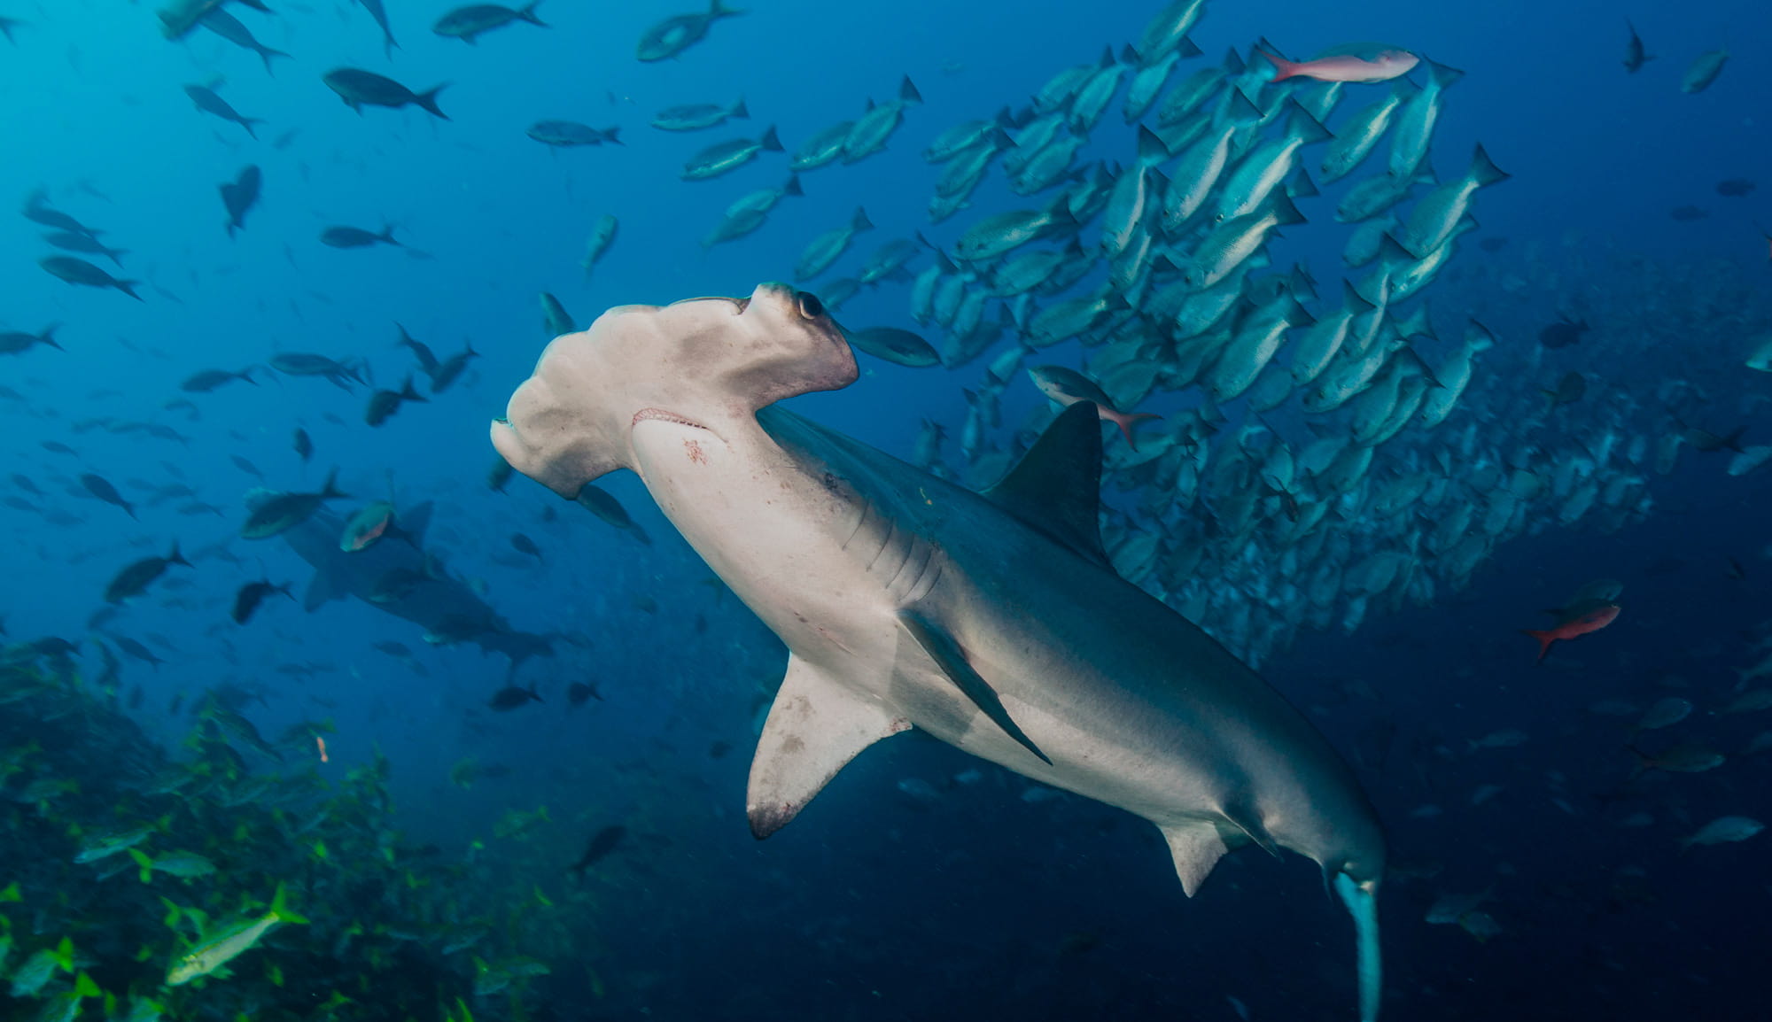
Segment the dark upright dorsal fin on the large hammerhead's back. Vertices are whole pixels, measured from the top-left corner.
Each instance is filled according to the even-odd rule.
[[[1058,413],[1003,482],[983,496],[1028,526],[1108,567],[1099,517],[1100,489],[1100,416],[1093,404],[1079,400]]]

